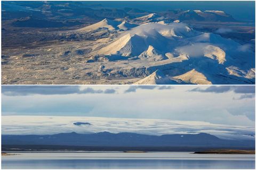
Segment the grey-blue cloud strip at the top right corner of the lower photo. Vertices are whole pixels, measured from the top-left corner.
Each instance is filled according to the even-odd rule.
[[[189,91],[223,93],[234,91],[236,94],[255,94],[254,86],[210,86],[206,89],[197,87]]]

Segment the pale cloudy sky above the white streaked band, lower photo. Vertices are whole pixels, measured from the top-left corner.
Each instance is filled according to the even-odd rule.
[[[254,86],[2,86],[2,115],[92,116],[254,126]]]

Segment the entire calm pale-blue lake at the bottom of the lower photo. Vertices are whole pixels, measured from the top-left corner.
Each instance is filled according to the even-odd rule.
[[[12,152],[2,169],[254,169],[255,155],[192,152]]]

